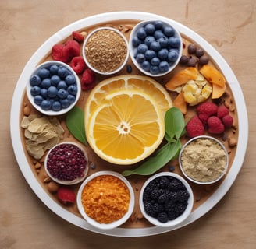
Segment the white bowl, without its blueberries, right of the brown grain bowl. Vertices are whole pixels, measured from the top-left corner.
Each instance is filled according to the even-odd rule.
[[[182,55],[182,51],[183,51],[183,41],[182,41],[182,37],[180,36],[180,32],[178,30],[176,30],[171,23],[165,23],[163,21],[163,27],[165,26],[170,26],[172,27],[172,29],[174,30],[174,36],[173,37],[177,37],[180,40],[180,46],[177,47],[178,49],[178,57],[176,58],[176,61],[170,62],[169,61],[169,70],[167,72],[158,72],[157,74],[152,74],[151,72],[145,71],[144,68],[141,67],[141,64],[137,62],[136,60],[136,54],[137,54],[137,47],[133,46],[133,38],[137,36],[137,32],[138,30],[140,30],[141,27],[146,26],[147,24],[153,24],[155,23],[155,21],[157,20],[151,20],[151,21],[143,21],[138,23],[136,26],[133,27],[133,30],[130,33],[130,40],[129,40],[129,51],[130,51],[130,58],[133,61],[133,64],[140,70],[140,72],[143,72],[145,75],[151,76],[151,77],[158,77],[158,76],[162,76],[162,75],[166,75],[169,72],[172,72],[172,70],[174,68],[176,68],[176,65],[178,65],[181,55]],[[144,42],[143,42],[144,43]],[[165,59],[165,61],[168,61],[167,59]]]

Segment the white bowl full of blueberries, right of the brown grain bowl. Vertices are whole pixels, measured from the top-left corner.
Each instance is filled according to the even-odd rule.
[[[130,57],[145,75],[162,76],[171,72],[179,63],[182,50],[179,31],[161,20],[138,23],[130,34]]]

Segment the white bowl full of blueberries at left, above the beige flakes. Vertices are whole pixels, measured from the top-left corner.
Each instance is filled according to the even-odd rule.
[[[71,110],[80,97],[80,79],[69,65],[46,61],[38,65],[27,83],[30,103],[46,115],[61,115]]]

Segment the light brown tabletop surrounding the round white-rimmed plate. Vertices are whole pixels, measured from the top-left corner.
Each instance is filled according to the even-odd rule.
[[[76,20],[123,10],[166,16],[208,40],[236,74],[249,117],[244,165],[225,197],[196,222],[151,237],[108,237],[82,230],[56,216],[24,180],[10,139],[12,93],[34,51]],[[2,0],[0,36],[0,248],[256,248],[254,0]]]

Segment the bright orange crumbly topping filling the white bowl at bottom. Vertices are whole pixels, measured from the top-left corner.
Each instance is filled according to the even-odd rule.
[[[130,191],[118,177],[102,175],[85,185],[81,198],[87,216],[98,223],[108,224],[126,214]]]

